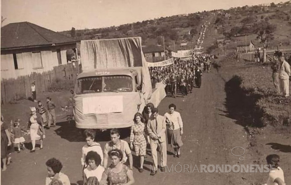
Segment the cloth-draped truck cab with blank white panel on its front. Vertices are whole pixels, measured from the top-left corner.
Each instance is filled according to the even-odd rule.
[[[74,91],[77,128],[125,128],[145,106],[141,67],[95,69],[78,75]]]

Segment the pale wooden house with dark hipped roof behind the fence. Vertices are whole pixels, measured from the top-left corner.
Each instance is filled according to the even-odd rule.
[[[1,28],[1,78],[17,78],[67,64],[67,50],[77,56],[76,40],[29,22]]]

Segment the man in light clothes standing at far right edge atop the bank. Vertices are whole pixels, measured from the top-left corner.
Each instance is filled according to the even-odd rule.
[[[290,65],[285,61],[284,56],[280,57],[280,90],[284,97],[289,97],[289,76],[291,76]]]

